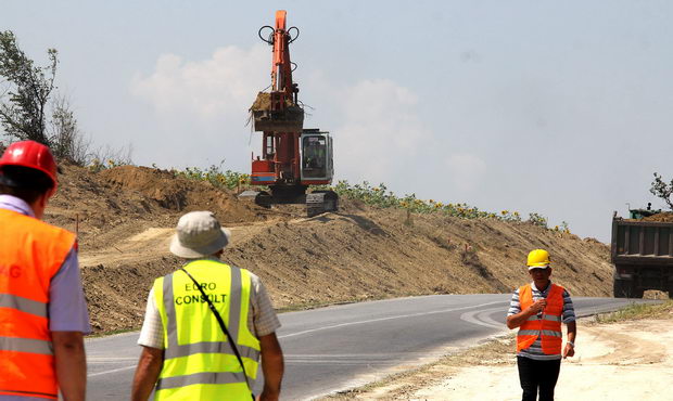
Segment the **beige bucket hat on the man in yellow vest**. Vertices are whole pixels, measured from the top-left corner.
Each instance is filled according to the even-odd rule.
[[[170,251],[185,259],[204,258],[219,254],[230,237],[212,211],[190,211],[178,220]]]

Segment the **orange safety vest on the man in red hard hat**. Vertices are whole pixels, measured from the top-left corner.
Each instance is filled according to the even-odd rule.
[[[58,398],[49,283],[75,235],[0,209],[0,394]]]

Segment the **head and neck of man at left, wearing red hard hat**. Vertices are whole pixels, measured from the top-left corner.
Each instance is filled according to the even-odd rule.
[[[24,199],[41,218],[55,192],[56,161],[49,147],[35,141],[8,146],[0,157],[0,194]]]

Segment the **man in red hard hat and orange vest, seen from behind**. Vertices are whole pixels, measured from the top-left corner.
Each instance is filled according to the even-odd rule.
[[[0,158],[0,401],[85,399],[90,332],[73,233],[40,219],[56,191],[49,147]]]

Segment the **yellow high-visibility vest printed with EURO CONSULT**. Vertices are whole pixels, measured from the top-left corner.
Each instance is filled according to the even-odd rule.
[[[214,260],[185,267],[203,287],[241,354],[245,372],[203,295],[191,279],[176,271],[154,282],[154,300],[164,327],[164,364],[154,399],[250,400],[257,375],[259,340],[247,327],[250,272]]]

